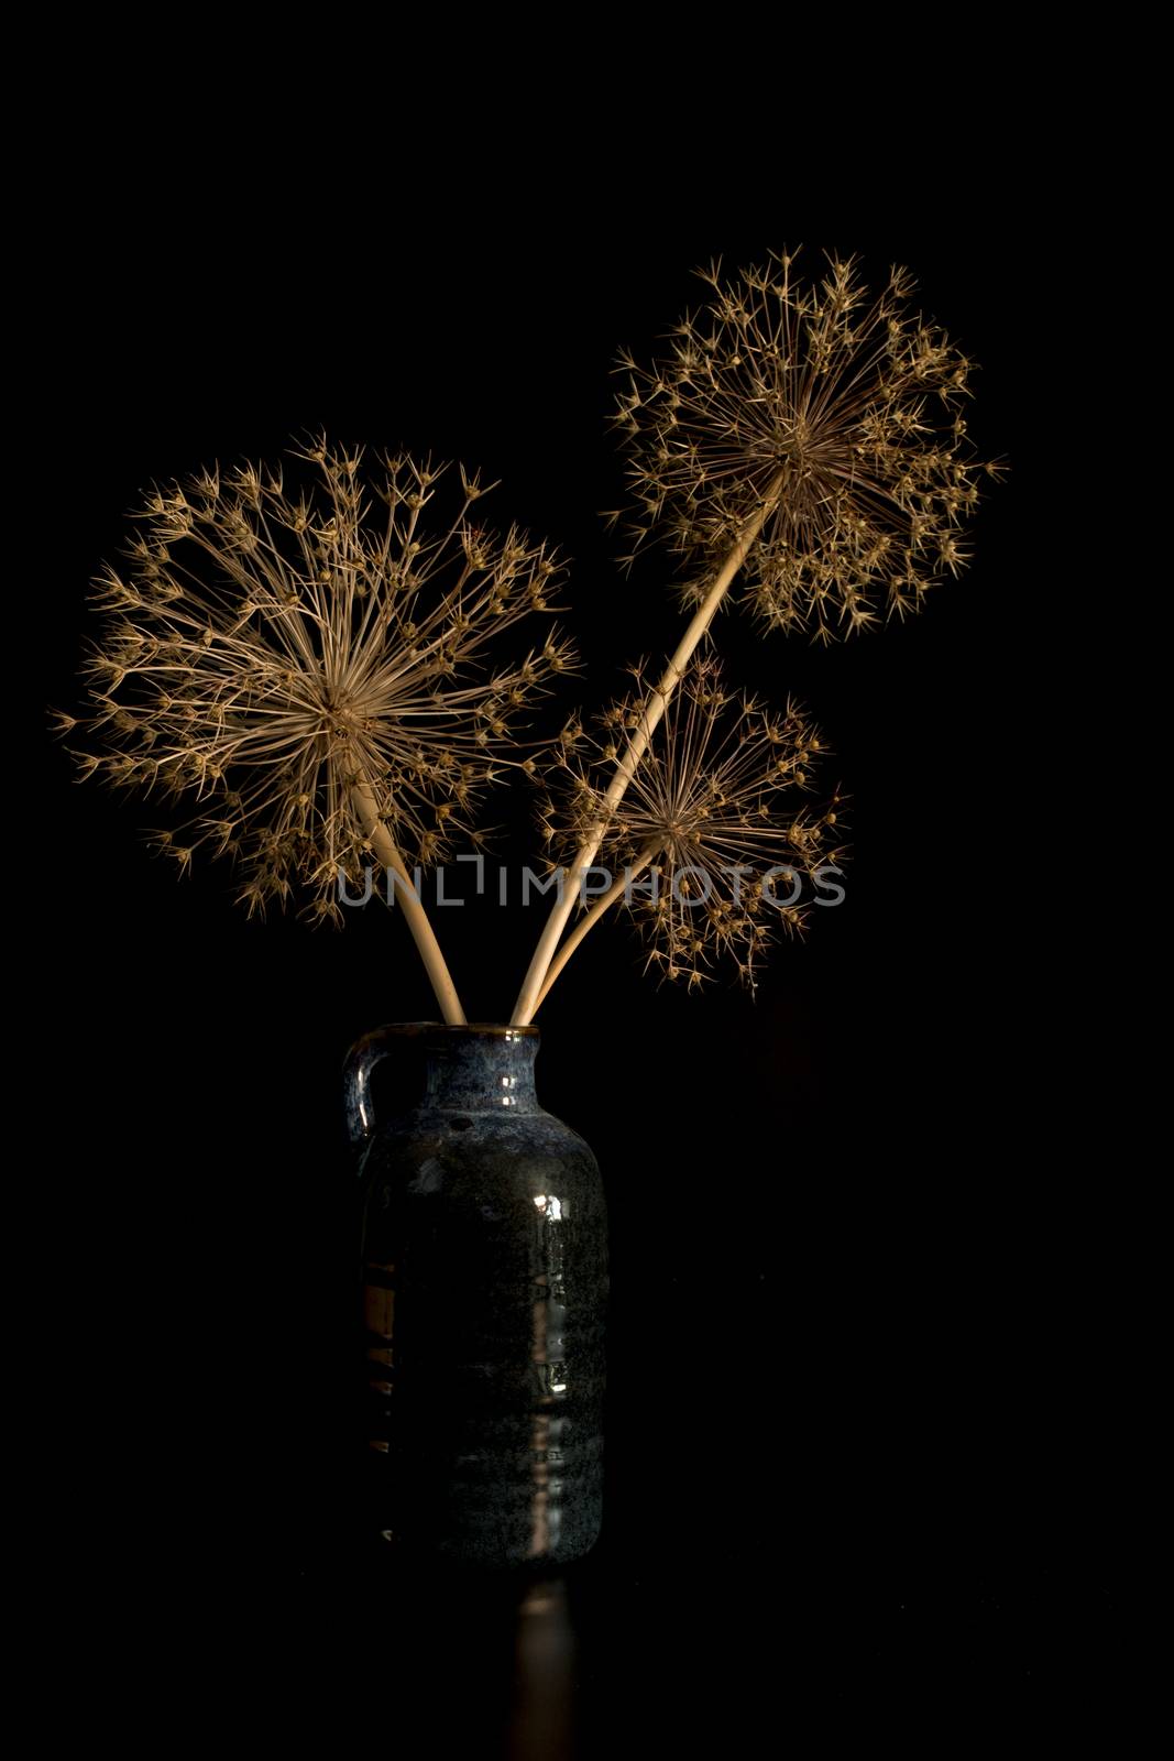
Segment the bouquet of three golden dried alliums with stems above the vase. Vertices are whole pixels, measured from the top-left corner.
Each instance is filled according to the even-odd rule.
[[[477,844],[489,785],[537,777],[556,889],[516,1025],[620,909],[662,977],[693,986],[729,958],[753,986],[773,932],[803,930],[792,882],[834,886],[841,798],[811,805],[822,740],[803,710],[729,683],[716,613],[741,602],[831,643],[921,609],[966,560],[998,467],[966,438],[972,363],[915,312],[903,269],[878,298],[854,262],[804,284],[787,252],[702,280],[664,357],[620,357],[621,562],[653,539],[685,562],[688,623],[665,666],[632,666],[623,699],[558,738],[525,738],[525,711],[574,667],[549,622],[565,565],[516,527],[491,532],[463,467],[456,493],[449,467],[371,470],[322,437],[285,467],[150,493],[127,565],[95,583],[84,710],[60,717],[88,736],[81,775],[183,808],[157,847],[181,872],[229,856],[250,912],[301,898],[341,921],[341,884],[375,858],[456,1025],[414,872]]]

